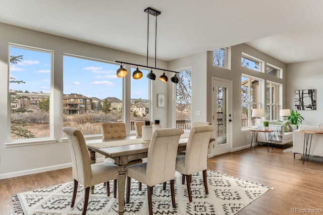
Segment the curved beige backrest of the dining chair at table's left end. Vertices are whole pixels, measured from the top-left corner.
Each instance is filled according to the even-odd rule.
[[[90,186],[91,182],[91,161],[82,131],[64,127],[63,131],[67,134],[72,156],[73,178],[80,182],[84,187]]]

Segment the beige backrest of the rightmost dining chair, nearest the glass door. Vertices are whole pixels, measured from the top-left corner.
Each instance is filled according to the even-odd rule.
[[[192,127],[185,152],[185,170],[188,175],[207,169],[207,149],[213,125]]]

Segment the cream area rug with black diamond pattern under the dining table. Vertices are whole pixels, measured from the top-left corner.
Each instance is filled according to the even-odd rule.
[[[163,185],[153,189],[152,203],[154,214],[235,214],[270,188],[261,184],[234,178],[226,174],[207,171],[208,191],[205,194],[202,173],[192,176],[191,190],[193,201],[189,202],[186,184],[182,185],[181,175],[176,172],[175,199],[176,208],[172,206],[169,183],[166,190]],[[111,190],[113,191],[113,183]],[[84,188],[79,185],[75,206],[70,207],[73,183],[59,184],[43,189],[17,193],[12,196],[17,213],[43,214],[81,214]],[[106,196],[106,189],[96,185],[94,194],[90,194],[87,213],[118,214],[118,198]],[[125,214],[148,214],[147,186],[138,190],[138,182],[132,180],[130,203],[125,205]]]

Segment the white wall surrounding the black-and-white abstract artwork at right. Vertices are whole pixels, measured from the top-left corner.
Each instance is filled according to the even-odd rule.
[[[299,110],[303,125],[323,123],[323,59],[287,64],[287,106],[295,110],[295,90],[316,89],[316,110]]]

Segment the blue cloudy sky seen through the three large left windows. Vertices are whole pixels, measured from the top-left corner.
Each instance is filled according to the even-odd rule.
[[[50,93],[51,53],[10,47],[10,55],[23,55],[17,64],[10,64],[10,77],[25,84],[10,83],[11,90],[26,90],[29,92],[42,91]],[[78,58],[74,56],[63,57],[63,85],[64,94],[81,94],[86,97],[105,99],[116,97],[122,100],[122,79],[116,76],[120,65],[103,61]],[[54,73],[55,69],[54,68]],[[128,76],[136,68],[128,71]],[[143,77],[139,80],[131,78],[131,98],[148,99],[147,70],[140,69]],[[13,80],[13,79],[12,79]]]

